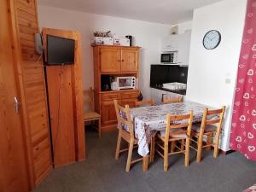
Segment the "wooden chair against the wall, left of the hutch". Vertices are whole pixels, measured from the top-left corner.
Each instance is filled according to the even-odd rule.
[[[94,91],[90,87],[89,90],[84,90],[84,123],[98,121],[98,134],[102,136],[101,131],[101,115],[94,110]]]

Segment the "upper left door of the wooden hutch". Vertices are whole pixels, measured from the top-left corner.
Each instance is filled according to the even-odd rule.
[[[119,73],[121,52],[118,48],[100,49],[100,70],[102,73]]]

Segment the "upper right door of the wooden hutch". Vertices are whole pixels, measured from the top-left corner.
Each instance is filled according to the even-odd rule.
[[[137,73],[138,50],[122,49],[121,73]]]

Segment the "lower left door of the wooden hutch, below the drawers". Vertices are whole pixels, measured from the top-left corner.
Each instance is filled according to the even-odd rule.
[[[113,102],[102,102],[102,125],[117,123]]]

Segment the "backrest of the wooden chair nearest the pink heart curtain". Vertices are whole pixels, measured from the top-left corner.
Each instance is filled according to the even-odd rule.
[[[221,126],[224,120],[225,106],[218,109],[209,110],[206,108],[204,110],[203,118],[201,121],[201,130],[205,131],[206,125],[218,124],[217,132],[221,130]]]

